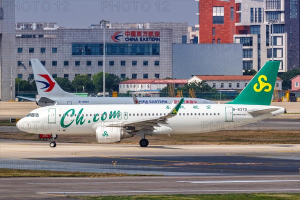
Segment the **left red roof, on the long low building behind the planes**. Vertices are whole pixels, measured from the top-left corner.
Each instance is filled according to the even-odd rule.
[[[187,79],[130,79],[120,84],[187,84]]]

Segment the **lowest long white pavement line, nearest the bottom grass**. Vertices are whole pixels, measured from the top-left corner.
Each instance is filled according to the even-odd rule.
[[[52,191],[52,192],[35,192],[43,194],[51,193],[152,193],[152,192],[206,192],[206,191],[300,191],[300,189],[215,189],[215,190],[143,190],[143,191]]]

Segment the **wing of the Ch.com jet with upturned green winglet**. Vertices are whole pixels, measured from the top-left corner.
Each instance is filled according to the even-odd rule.
[[[181,98],[181,100],[165,116],[153,117],[150,119],[138,120],[138,121],[133,121],[133,122],[124,122],[124,123],[117,122],[114,124],[109,124],[106,127],[125,127],[125,126],[132,127],[133,126],[135,131],[138,131],[141,129],[154,130],[155,129],[154,127],[160,127],[159,124],[165,124],[165,125],[168,124],[167,119],[177,115],[177,112],[183,102],[184,102],[184,98]]]

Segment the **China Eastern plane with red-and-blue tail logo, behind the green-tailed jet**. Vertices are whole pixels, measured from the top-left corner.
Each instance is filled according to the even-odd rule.
[[[30,98],[17,96],[26,100],[35,101],[39,106],[47,105],[67,105],[67,104],[170,104],[179,102],[178,97],[82,97],[73,93],[69,93],[61,89],[54,78],[48,73],[38,59],[30,59],[34,79],[36,83],[39,98]],[[214,103],[213,101],[202,98],[185,98],[184,103]]]

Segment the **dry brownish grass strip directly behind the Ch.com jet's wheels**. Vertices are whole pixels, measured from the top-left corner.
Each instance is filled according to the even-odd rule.
[[[3,139],[39,140],[37,134],[25,132],[0,132]],[[117,144],[138,144],[140,137],[123,139]],[[298,144],[299,130],[219,130],[198,134],[152,135],[153,144]],[[49,142],[44,140],[45,142]],[[58,135],[58,142],[96,143],[95,135]],[[116,144],[116,145],[117,145]]]

